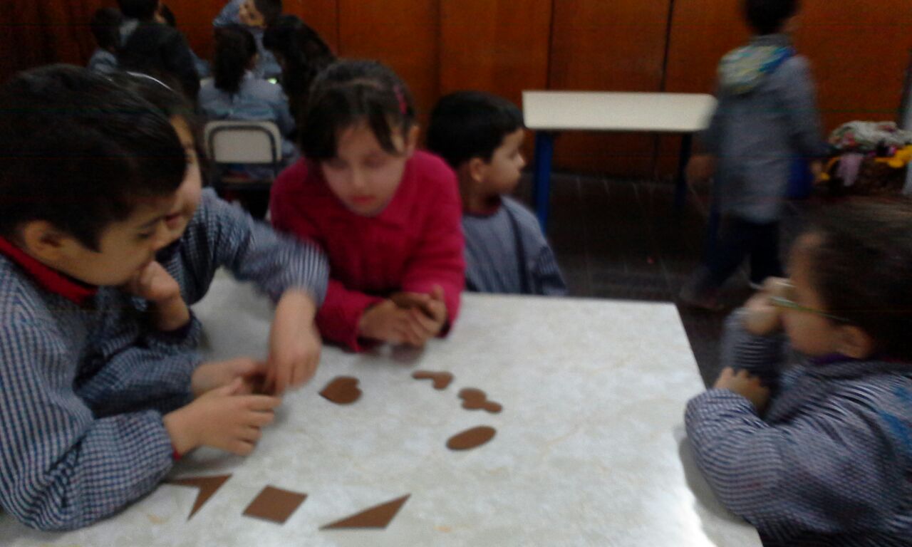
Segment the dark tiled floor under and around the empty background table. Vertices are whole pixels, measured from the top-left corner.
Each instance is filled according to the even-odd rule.
[[[523,177],[518,194],[529,202],[528,177]],[[549,238],[571,294],[675,300],[681,284],[700,261],[706,197],[691,193],[685,211],[676,215],[673,196],[671,181],[555,173]],[[803,209],[791,204],[783,232],[795,231]],[[710,313],[679,306],[704,382],[710,383],[718,375],[717,351],[725,316],[749,295],[747,277],[738,275],[726,287],[728,310]]]

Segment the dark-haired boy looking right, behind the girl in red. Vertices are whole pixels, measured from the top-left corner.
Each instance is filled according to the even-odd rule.
[[[519,108],[480,91],[440,98],[431,113],[428,148],[459,178],[470,291],[566,294],[538,221],[508,197],[525,165],[524,133]]]

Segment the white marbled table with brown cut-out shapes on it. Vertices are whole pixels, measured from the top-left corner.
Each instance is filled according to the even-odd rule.
[[[196,491],[162,485],[119,515],[78,532],[34,532],[0,518],[0,545],[610,545],[759,546],[694,470],[685,401],[702,390],[671,304],[466,295],[445,341],[426,351],[351,355],[324,349],[316,378],[286,397],[247,459],[200,450],[174,477],[233,473],[191,521]],[[269,306],[216,278],[196,308],[212,356],[263,355]],[[448,370],[436,391],[410,377]],[[317,396],[358,377],[341,407]],[[503,404],[460,408],[479,387]],[[454,433],[497,428],[488,444],[446,449]],[[266,485],[306,492],[284,525],[242,516]],[[411,494],[386,530],[319,531]]]

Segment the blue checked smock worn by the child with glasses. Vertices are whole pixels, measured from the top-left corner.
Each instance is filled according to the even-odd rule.
[[[720,500],[764,544],[912,545],[912,365],[800,362],[731,315],[723,365],[778,377],[769,408],[728,390],[690,400],[688,436]]]

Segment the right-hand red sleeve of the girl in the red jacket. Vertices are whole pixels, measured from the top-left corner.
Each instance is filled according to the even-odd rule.
[[[465,288],[465,241],[456,175],[449,168],[441,168],[435,175],[443,181],[436,195],[424,196],[434,201],[433,212],[421,232],[415,253],[409,258],[402,290],[430,293],[434,285],[440,285],[449,319],[441,333],[445,335],[459,315],[460,296]]]

